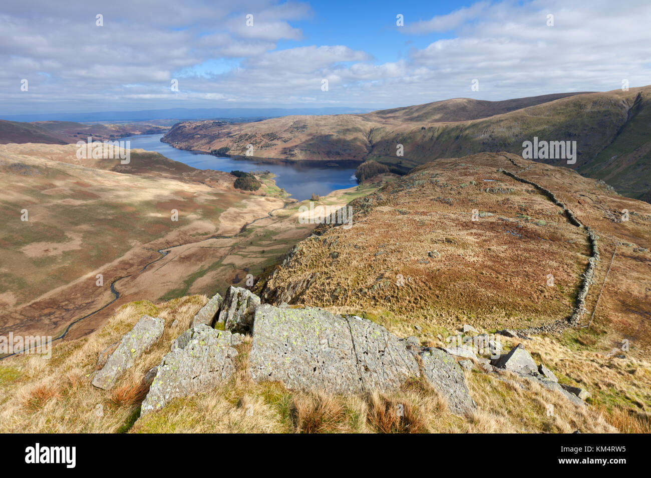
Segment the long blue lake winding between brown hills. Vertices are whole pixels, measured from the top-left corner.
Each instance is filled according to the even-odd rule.
[[[230,157],[217,157],[207,153],[198,153],[186,150],[177,150],[165,142],[161,142],[163,135],[136,135],[120,140],[131,142],[131,147],[161,153],[169,159],[185,163],[197,169],[214,169],[231,172],[268,170],[276,175],[278,187],[282,187],[291,194],[290,197],[299,201],[311,198],[312,194],[325,196],[335,189],[345,189],[357,184],[355,168],[350,167],[325,167],[301,164],[275,165],[250,159],[234,159]]]

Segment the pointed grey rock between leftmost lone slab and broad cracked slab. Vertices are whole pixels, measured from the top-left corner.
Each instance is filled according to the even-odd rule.
[[[237,354],[230,346],[227,330],[215,330],[205,324],[186,330],[158,366],[141,414],[159,410],[175,397],[212,390],[232,376]]]

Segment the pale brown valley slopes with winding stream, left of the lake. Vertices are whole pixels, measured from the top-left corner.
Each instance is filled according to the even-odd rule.
[[[291,219],[299,205],[268,174],[257,176],[263,186],[251,193],[234,189],[228,173],[158,153],[132,150],[121,165],[77,159],[76,150],[0,146],[0,204],[13,211],[0,225],[0,334],[58,336],[74,323],[68,334],[78,337],[130,300],[223,291],[275,263],[314,228]],[[322,201],[345,204],[376,187]]]

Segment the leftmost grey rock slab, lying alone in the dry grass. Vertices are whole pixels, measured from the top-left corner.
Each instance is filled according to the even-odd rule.
[[[158,341],[163,335],[163,328],[163,319],[143,315],[131,332],[122,336],[120,345],[109,356],[102,370],[92,378],[92,384],[104,390],[111,388],[115,380],[132,367],[146,349]]]

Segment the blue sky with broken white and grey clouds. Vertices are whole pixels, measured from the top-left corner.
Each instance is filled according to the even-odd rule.
[[[645,86],[650,25],[648,0],[4,1],[0,118]]]

